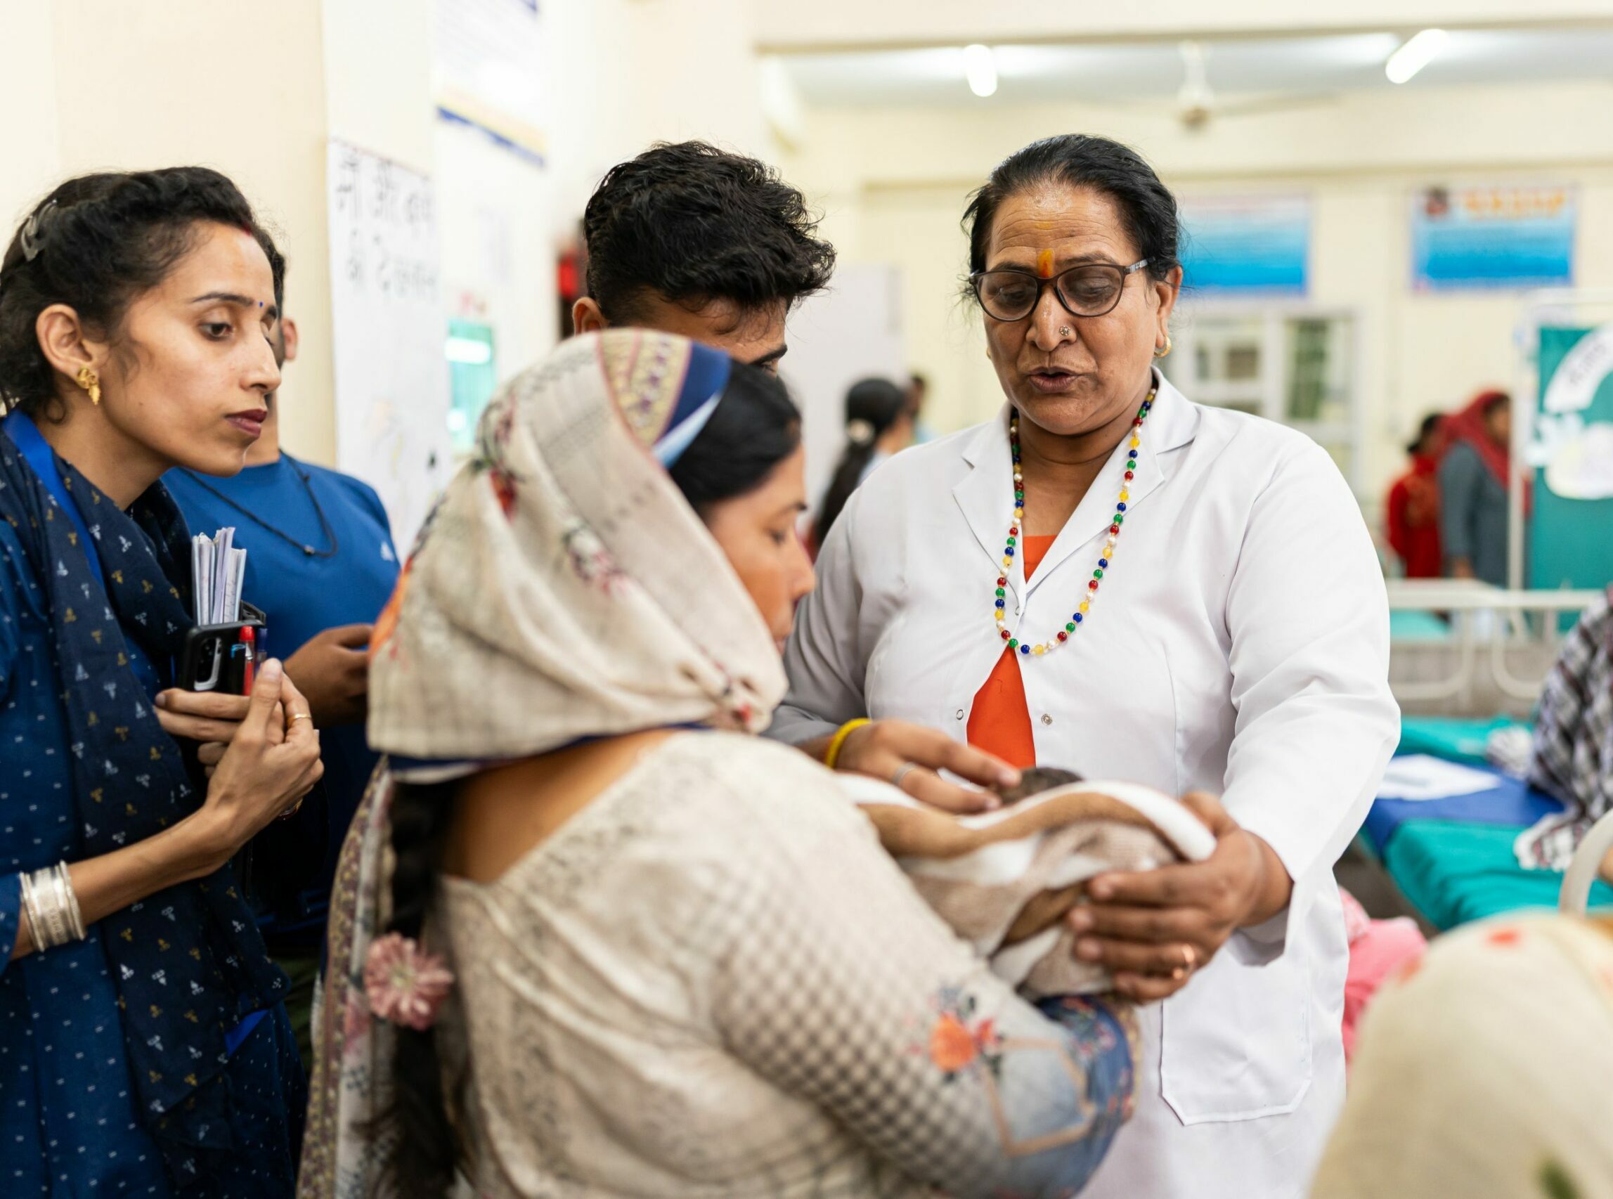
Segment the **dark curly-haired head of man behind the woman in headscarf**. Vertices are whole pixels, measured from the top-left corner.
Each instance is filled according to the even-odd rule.
[[[573,324],[677,332],[776,371],[786,316],[834,271],[816,231],[805,197],[766,163],[706,142],[656,144],[589,198],[587,295]]]

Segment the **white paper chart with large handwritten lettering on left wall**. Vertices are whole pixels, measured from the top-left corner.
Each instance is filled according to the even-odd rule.
[[[406,547],[453,465],[436,195],[344,142],[327,168],[337,466],[381,494]]]

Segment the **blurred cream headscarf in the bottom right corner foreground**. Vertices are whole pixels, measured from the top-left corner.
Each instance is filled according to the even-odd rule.
[[[1311,1199],[1613,1199],[1613,938],[1516,913],[1366,1010]]]

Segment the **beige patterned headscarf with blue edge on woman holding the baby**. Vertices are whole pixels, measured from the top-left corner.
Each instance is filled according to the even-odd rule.
[[[715,350],[619,329],[503,389],[377,625],[374,749],[482,762],[656,725],[766,726],[777,647],[656,458],[726,378]]]

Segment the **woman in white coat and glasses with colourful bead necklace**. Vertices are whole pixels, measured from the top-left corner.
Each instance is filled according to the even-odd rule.
[[[774,736],[821,757],[873,718],[840,739],[840,768],[957,800],[926,767],[990,771],[961,742],[1013,645],[1037,762],[1219,794],[1208,863],[1098,879],[1073,917],[1123,991],[1163,997],[1140,1009],[1137,1113],[1086,1196],[1302,1196],[1344,1099],[1332,865],[1398,734],[1366,528],[1313,442],[1153,371],[1181,282],[1176,205],[1131,150],[1037,142],[969,218],[1008,403],[852,497]],[[1027,583],[1005,549],[1047,534]]]

